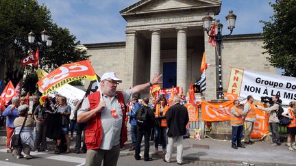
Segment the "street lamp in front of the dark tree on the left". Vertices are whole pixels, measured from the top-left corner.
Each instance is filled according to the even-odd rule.
[[[51,46],[52,44],[52,39],[49,36],[49,33],[44,29],[43,31],[40,32],[41,34],[41,42],[37,42],[37,47],[40,48],[39,50],[39,68],[42,68],[42,64],[41,64],[41,59],[42,59],[42,52],[45,50],[45,43],[46,46]],[[35,33],[33,33],[33,31],[31,31],[30,33],[28,33],[28,42],[31,46],[31,44],[34,44],[35,41]],[[29,50],[31,48],[29,47]]]

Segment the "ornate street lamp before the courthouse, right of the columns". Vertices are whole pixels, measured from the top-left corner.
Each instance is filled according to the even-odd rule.
[[[202,19],[204,22],[204,30],[207,32],[208,36],[211,38],[214,38],[214,41],[217,42],[217,53],[219,58],[219,90],[217,93],[218,99],[224,99],[223,94],[223,86],[222,86],[222,70],[221,70],[221,42],[224,40],[226,36],[230,36],[232,34],[232,31],[235,27],[235,21],[236,21],[236,15],[232,13],[232,10],[230,10],[228,16],[225,17],[227,20],[228,29],[230,29],[230,34],[228,35],[222,35],[222,28],[223,25],[220,23],[220,20],[216,20],[215,23],[215,34],[209,34],[209,31],[211,30],[212,25],[212,17],[209,16],[207,13],[206,16]]]

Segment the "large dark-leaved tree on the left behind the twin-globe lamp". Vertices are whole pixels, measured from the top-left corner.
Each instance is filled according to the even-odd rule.
[[[42,46],[40,31],[43,29],[49,31],[49,36],[53,38],[50,48]],[[36,33],[33,45],[27,41],[27,33],[31,30]],[[24,73],[36,73],[37,68],[23,67],[20,63],[29,49],[38,47],[42,67],[48,64],[52,70],[62,64],[87,59],[86,51],[77,49],[80,43],[75,40],[69,29],[53,23],[51,13],[44,4],[39,5],[36,0],[0,0],[0,71],[4,71],[0,77],[5,78],[6,83],[12,81],[16,85]]]

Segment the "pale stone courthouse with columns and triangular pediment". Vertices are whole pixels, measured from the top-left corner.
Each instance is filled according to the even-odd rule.
[[[147,83],[153,73],[163,74],[162,87],[177,85],[188,92],[190,82],[201,76],[201,58],[206,52],[206,100],[217,97],[219,87],[218,56],[208,43],[202,18],[208,12],[214,18],[221,0],[142,0],[120,11],[126,20],[126,40],[84,44],[97,74],[114,71],[123,79],[119,90]],[[235,13],[235,11],[234,11]],[[240,19],[240,16],[237,16]],[[245,25],[251,26],[251,25]],[[234,29],[235,31],[236,29]],[[224,34],[228,33],[227,25]],[[262,54],[261,34],[232,35],[222,42],[223,90],[227,91],[230,66],[276,73],[268,55]],[[148,93],[148,92],[147,92]]]

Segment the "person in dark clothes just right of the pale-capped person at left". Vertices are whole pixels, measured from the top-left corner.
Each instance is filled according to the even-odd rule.
[[[47,141],[45,137],[46,127],[45,120],[47,119],[47,112],[52,112],[49,99],[45,98],[42,105],[36,107],[33,115],[36,122],[36,139],[35,139],[35,149],[36,152],[48,151]]]

